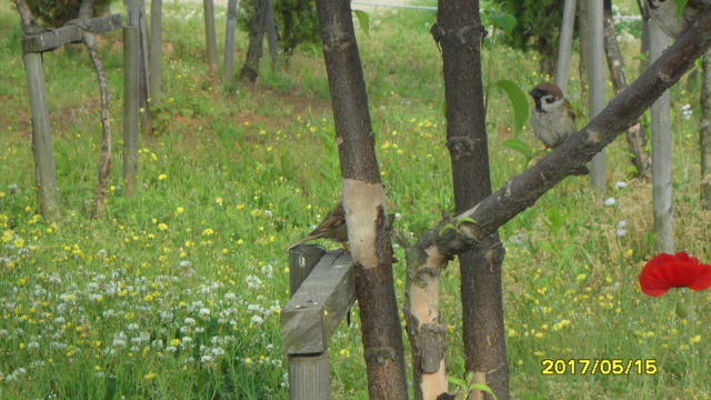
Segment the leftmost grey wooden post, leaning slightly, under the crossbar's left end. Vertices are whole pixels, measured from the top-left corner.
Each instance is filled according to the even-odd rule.
[[[44,218],[57,219],[59,217],[60,200],[59,189],[57,188],[52,136],[49,130],[42,54],[26,52],[23,60],[27,86],[30,92],[30,110],[32,112],[32,151],[34,152],[38,197]]]

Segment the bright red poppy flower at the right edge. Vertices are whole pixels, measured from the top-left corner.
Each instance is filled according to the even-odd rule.
[[[699,262],[685,252],[654,256],[640,273],[640,287],[645,294],[658,297],[671,288],[704,290],[711,287],[711,266]]]

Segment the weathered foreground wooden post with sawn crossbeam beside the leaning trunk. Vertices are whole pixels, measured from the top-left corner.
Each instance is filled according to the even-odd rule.
[[[328,340],[356,301],[350,254],[329,251],[320,260],[319,254],[323,248],[317,246],[298,246],[289,254],[291,289],[306,278],[281,311],[291,400],[331,398]]]

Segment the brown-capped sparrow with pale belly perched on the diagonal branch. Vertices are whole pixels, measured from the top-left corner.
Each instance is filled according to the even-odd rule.
[[[563,97],[563,91],[558,84],[543,82],[529,92],[535,102],[531,112],[531,127],[533,133],[547,148],[554,149],[561,146],[569,136],[578,132],[575,112]],[[590,173],[585,166],[575,168],[574,176]]]

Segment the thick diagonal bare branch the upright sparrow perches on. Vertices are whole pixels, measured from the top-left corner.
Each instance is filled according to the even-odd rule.
[[[701,12],[697,21],[628,90],[614,97],[580,132],[523,173],[511,178],[495,193],[460,216],[442,221],[440,227],[461,221],[462,218],[471,218],[475,223],[463,222],[460,226],[461,233],[468,241],[480,242],[497,228],[533,206],[571,171],[590,161],[620,132],[630,128],[664,90],[681,79],[710,46],[711,8]]]

